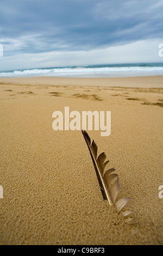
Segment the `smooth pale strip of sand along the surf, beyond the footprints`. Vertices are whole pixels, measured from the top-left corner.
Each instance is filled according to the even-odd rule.
[[[94,86],[94,87],[128,87],[128,88],[163,88],[163,76],[136,77],[18,77],[0,78],[1,84],[33,86]]]

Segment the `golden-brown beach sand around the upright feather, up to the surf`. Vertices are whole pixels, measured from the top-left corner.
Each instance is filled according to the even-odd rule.
[[[1,78],[1,245],[162,245],[163,77]],[[116,87],[115,87],[116,86]],[[111,111],[87,131],[121,181],[134,224],[102,198],[81,131],[52,113]]]

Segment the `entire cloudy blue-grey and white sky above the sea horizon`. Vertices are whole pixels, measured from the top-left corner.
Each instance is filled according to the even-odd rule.
[[[1,0],[0,71],[162,62],[163,0]]]

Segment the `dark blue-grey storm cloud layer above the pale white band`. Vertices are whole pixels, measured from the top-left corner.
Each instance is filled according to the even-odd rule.
[[[153,0],[5,0],[0,42],[12,55],[161,38],[162,8],[162,1]]]

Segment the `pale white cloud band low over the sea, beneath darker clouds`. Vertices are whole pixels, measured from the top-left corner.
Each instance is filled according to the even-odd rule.
[[[90,51],[22,53],[3,57],[3,67],[0,68],[0,71],[12,70],[12,66],[15,67],[15,62],[17,70],[71,65],[144,63],[145,60],[146,62],[161,62],[162,59],[158,54],[159,44],[160,40],[142,40]]]

